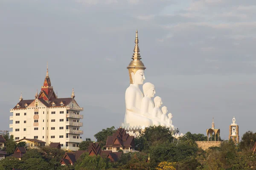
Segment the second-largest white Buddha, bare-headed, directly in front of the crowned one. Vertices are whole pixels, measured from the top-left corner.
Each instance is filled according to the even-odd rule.
[[[145,114],[145,116],[151,117],[150,113],[152,113],[154,109],[154,102],[151,98],[156,94],[155,86],[150,82],[146,82],[143,85],[143,93],[144,97],[141,101],[141,113]]]

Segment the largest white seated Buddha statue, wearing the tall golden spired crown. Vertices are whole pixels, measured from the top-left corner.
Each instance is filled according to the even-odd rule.
[[[143,93],[140,91],[139,85],[143,84],[145,80],[144,70],[145,66],[140,60],[140,48],[139,48],[138,31],[136,31],[135,47],[132,61],[128,65],[128,71],[130,76],[130,86],[125,91],[125,126],[143,126],[151,125],[151,119],[143,116],[141,112],[141,102],[143,99]]]

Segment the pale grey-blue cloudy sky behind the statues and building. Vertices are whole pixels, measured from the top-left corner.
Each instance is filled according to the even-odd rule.
[[[256,132],[255,0],[0,0],[0,130],[34,99],[49,62],[58,97],[84,108],[83,139],[119,127],[135,32],[145,81],[180,133]]]

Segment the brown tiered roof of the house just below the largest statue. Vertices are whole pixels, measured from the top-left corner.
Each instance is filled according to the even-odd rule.
[[[113,136],[108,136],[106,145],[104,147],[135,147],[134,136],[129,136],[126,130],[118,128]]]

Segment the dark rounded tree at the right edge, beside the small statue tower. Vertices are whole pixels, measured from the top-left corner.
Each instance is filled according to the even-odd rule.
[[[240,142],[240,149],[250,150],[253,147],[255,142],[256,142],[256,133],[253,133],[252,131],[247,131],[242,136],[242,139]]]

